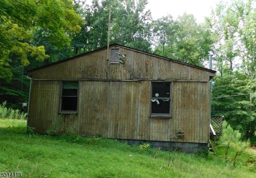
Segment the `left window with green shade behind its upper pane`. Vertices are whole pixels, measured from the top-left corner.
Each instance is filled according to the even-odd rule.
[[[76,112],[78,101],[78,82],[62,82],[60,111]]]

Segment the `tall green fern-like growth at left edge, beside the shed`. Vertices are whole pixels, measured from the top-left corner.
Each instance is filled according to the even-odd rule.
[[[4,101],[0,104],[0,118],[26,119],[27,113],[21,112],[19,109],[6,108],[6,101]]]

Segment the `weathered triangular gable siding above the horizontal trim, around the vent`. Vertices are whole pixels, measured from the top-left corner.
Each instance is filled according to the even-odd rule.
[[[111,50],[111,49],[109,49]],[[213,73],[175,61],[120,48],[124,63],[109,63],[106,49],[28,73],[33,79],[204,80]],[[108,73],[108,74],[107,74]],[[71,75],[72,74],[72,75]]]

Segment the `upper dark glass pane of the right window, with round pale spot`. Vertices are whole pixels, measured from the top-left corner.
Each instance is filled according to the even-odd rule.
[[[170,98],[170,82],[152,83],[152,97]]]

